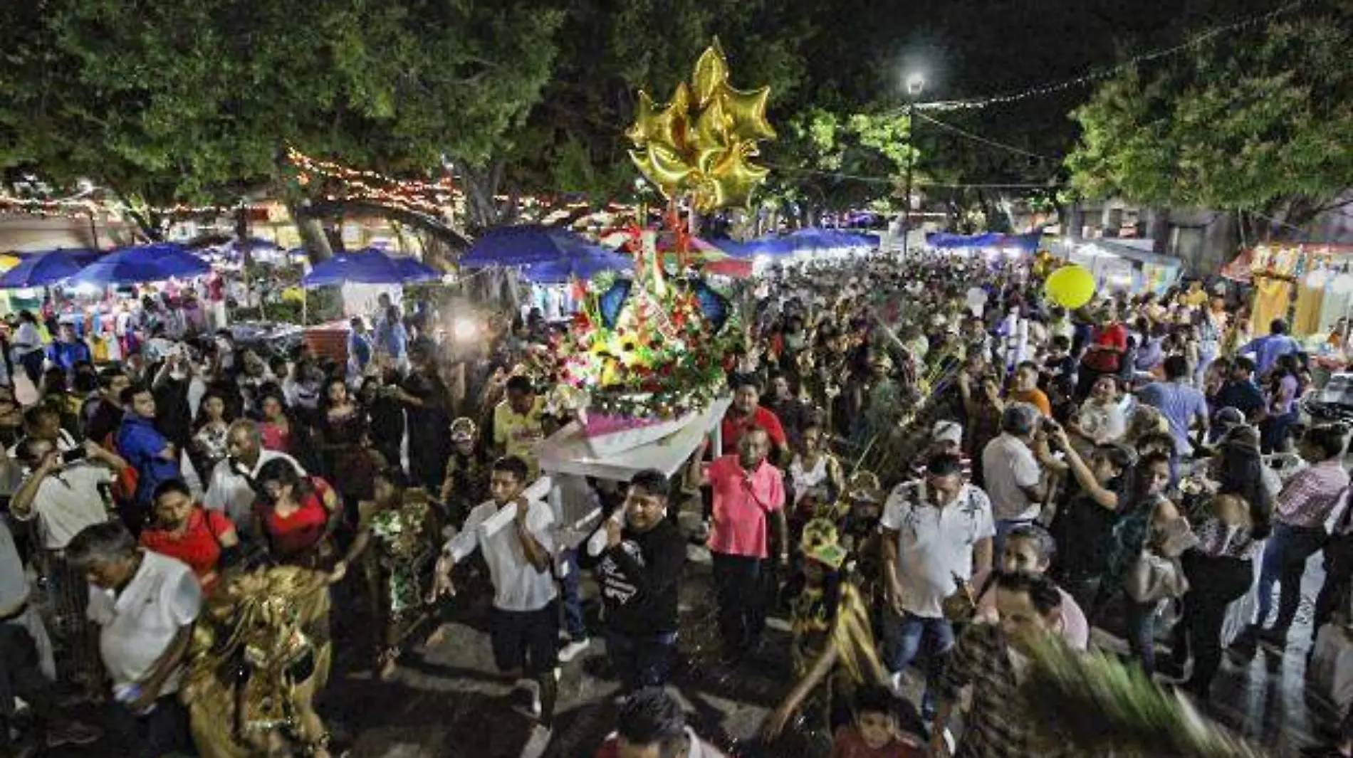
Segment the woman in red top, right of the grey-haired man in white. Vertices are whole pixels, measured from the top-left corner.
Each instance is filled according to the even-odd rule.
[[[318,569],[334,555],[333,530],[342,517],[338,495],[319,477],[296,472],[291,461],[268,461],[256,478],[254,534],[279,563]],[[331,581],[342,578],[340,561]]]

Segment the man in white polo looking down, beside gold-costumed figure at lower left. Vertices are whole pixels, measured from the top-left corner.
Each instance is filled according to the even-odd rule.
[[[137,547],[118,522],[87,527],[66,547],[89,580],[89,620],[112,678],[122,743],[137,758],[192,746],[179,701],[184,657],[202,609],[198,577],[181,561]]]

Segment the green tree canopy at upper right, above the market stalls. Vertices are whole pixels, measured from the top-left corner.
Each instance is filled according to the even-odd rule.
[[[1074,112],[1074,186],[1300,223],[1353,178],[1353,3],[1218,36],[1107,81]]]

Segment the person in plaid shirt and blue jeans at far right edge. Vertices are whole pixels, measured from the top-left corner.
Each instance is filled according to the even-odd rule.
[[[1262,626],[1268,617],[1273,582],[1277,581],[1281,590],[1277,619],[1272,627],[1258,632],[1258,639],[1279,650],[1287,647],[1287,630],[1302,601],[1306,559],[1325,546],[1325,522],[1349,486],[1349,474],[1344,470],[1345,435],[1345,428],[1337,424],[1307,431],[1298,443],[1298,453],[1311,466],[1293,476],[1277,496],[1273,535],[1264,549],[1260,569],[1258,613],[1254,623]]]

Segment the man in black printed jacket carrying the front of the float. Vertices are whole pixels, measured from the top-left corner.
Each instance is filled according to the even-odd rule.
[[[668,492],[660,472],[635,474],[622,509],[590,545],[598,554],[606,651],[626,692],[663,686],[676,650],[676,592],[686,540],[666,517]]]

